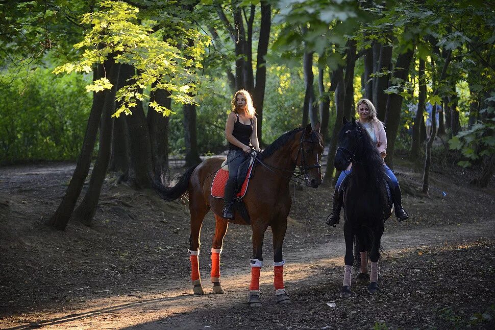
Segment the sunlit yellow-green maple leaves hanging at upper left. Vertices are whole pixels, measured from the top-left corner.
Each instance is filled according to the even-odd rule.
[[[193,103],[196,70],[202,67],[200,56],[209,44],[209,38],[196,29],[182,29],[184,40],[194,41],[194,45],[173,44],[152,35],[154,21],[138,24],[139,10],[127,3],[101,1],[98,8],[81,17],[83,25],[91,26],[84,39],[74,45],[83,50],[81,56],[73,62],[65,63],[54,69],[54,73],[90,72],[95,63],[113,59],[116,63],[130,64],[137,69],[132,83],[117,91],[117,101],[121,106],[113,116],[122,112],[131,114],[136,102],[149,98],[142,90],[165,89],[171,98],[179,103]],[[179,38],[180,39],[180,38]],[[112,83],[102,78],[88,86],[90,90],[111,88]],[[156,111],[169,115],[170,109],[150,103]]]

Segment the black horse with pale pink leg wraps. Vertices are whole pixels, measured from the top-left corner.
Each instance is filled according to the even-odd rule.
[[[341,297],[349,298],[352,294],[353,265],[362,266],[357,282],[367,282],[366,253],[371,262],[368,292],[370,294],[380,292],[378,286],[380,240],[385,220],[392,214],[392,200],[387,191],[382,157],[368,132],[354,120],[354,117],[351,122],[345,117],[342,121],[344,125],[339,132],[339,147],[334,165],[337,170],[343,171],[352,162],[352,174],[343,192],[345,266],[343,286],[340,291]]]

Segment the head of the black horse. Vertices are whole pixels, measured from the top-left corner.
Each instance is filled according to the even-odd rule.
[[[362,139],[361,128],[354,120],[354,117],[352,117],[351,121],[343,117],[342,122],[344,126],[339,133],[339,147],[333,162],[335,168],[339,171],[347,169],[349,164],[356,160],[356,153]]]

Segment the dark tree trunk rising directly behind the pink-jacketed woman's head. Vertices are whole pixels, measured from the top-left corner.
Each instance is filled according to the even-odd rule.
[[[388,70],[392,63],[392,46],[385,44],[380,48],[380,60],[378,64],[378,72]],[[377,77],[373,82],[373,105],[377,109],[378,119],[384,121],[387,106],[388,95],[383,91],[388,88],[389,75]]]

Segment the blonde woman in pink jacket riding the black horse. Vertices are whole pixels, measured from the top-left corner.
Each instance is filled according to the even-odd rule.
[[[383,128],[382,122],[377,118],[377,110],[371,101],[368,99],[361,99],[356,105],[356,109],[359,114],[359,119],[357,122],[361,123],[363,127],[368,132],[372,141],[376,143],[378,152],[380,156],[384,159],[387,155],[387,134]],[[388,168],[388,166],[383,162],[385,167],[385,172],[389,178],[390,192],[392,195],[393,205],[395,209],[395,216],[397,220],[403,221],[409,218],[404,207],[402,206],[402,194],[401,187],[399,186],[399,181],[393,174],[393,172]],[[335,193],[333,195],[333,209],[332,213],[325,222],[327,225],[336,226],[339,223],[340,209],[342,208],[342,194],[343,188],[347,184],[346,178],[351,173],[352,163],[349,168],[340,173],[340,176],[335,185]]]

